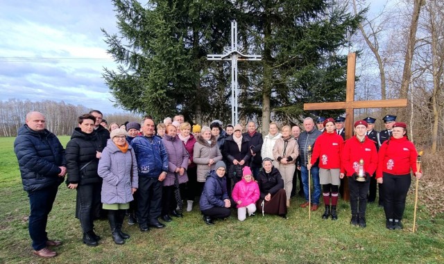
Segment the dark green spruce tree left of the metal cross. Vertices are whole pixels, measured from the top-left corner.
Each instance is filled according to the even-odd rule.
[[[119,35],[105,30],[108,53],[119,64],[103,77],[123,108],[160,120],[178,112],[198,123],[229,109],[220,71],[209,71],[207,53],[223,52],[230,39],[226,1],[114,0]],[[211,74],[210,74],[211,73]],[[208,76],[213,78],[208,78]],[[214,98],[219,98],[214,103]],[[212,104],[214,103],[214,104]]]

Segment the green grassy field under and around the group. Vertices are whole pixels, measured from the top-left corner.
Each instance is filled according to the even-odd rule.
[[[69,138],[60,140],[65,145]],[[431,218],[420,203],[418,231],[413,234],[412,193],[402,231],[386,229],[384,211],[375,204],[368,206],[366,229],[350,226],[350,205],[343,201],[339,220],[322,220],[323,210],[318,210],[309,221],[297,197],[291,201],[288,220],[257,213],[239,222],[233,213],[210,227],[195,206],[164,229],[142,233],[137,225],[125,223],[123,231],[131,235],[125,245],[115,245],[108,222],[100,220],[95,229],[103,239],[98,247],[87,247],[74,218],[76,193],[64,184],[47,227],[49,238],[63,240],[64,245],[56,258],[37,258],[28,236],[28,197],[13,141],[0,138],[0,263],[444,263],[443,215]]]

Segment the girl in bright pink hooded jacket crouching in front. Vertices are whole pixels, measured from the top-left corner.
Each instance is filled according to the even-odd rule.
[[[246,213],[254,215],[256,202],[259,200],[259,185],[253,179],[250,167],[242,169],[242,179],[234,185],[232,198],[237,204],[237,219],[244,221]]]

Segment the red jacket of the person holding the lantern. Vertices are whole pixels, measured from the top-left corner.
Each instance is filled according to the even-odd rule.
[[[342,151],[341,163],[343,168],[341,173],[345,173],[348,177],[357,173],[361,159],[364,159],[364,171],[373,175],[378,161],[375,141],[368,139],[367,136],[362,143],[356,136],[345,141]]]

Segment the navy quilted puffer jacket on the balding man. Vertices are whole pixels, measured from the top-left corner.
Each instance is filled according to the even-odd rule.
[[[65,150],[55,134],[44,130],[36,132],[28,125],[19,128],[14,141],[14,152],[19,161],[25,191],[60,185],[60,166],[65,166]]]

